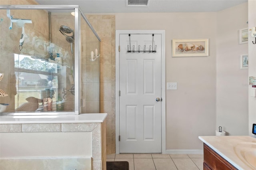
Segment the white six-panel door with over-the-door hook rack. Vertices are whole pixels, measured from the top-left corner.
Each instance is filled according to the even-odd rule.
[[[161,34],[120,34],[120,153],[161,152]],[[128,49],[129,45],[129,49]],[[146,51],[156,47],[156,53]],[[156,101],[160,98],[160,101]]]

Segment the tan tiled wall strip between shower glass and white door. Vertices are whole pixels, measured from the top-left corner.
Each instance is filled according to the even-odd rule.
[[[106,118],[107,154],[116,152],[116,55],[115,15],[86,15],[101,39],[101,85],[100,112],[108,113]]]

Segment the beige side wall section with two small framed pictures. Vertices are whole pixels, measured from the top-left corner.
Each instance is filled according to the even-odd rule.
[[[240,55],[248,54],[248,43],[239,43],[239,30],[248,28],[247,11],[244,3],[217,12],[216,128],[228,135],[247,134],[248,69],[240,69]]]

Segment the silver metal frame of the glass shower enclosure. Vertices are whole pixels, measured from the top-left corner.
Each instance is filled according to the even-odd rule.
[[[82,106],[82,100],[81,100],[81,90],[80,90],[80,73],[81,73],[81,67],[79,63],[81,62],[81,53],[80,53],[80,16],[85,20],[85,22],[88,24],[89,28],[92,30],[94,35],[97,37],[97,39],[101,42],[100,37],[86,18],[84,14],[81,12],[78,5],[0,5],[0,10],[74,10],[75,16],[75,28],[74,28],[74,66],[75,68],[75,76],[74,81],[78,82],[75,83],[75,95],[74,97],[74,111],[70,112],[42,112],[42,114],[39,114],[38,112],[28,112],[28,113],[8,113],[7,115],[79,115],[81,113],[81,106]]]

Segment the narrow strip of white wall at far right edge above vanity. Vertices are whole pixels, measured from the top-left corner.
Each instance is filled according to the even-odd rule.
[[[256,27],[256,1],[248,0],[248,28]],[[255,38],[250,36],[251,31],[249,31],[249,40],[248,40],[248,49],[249,49],[249,76],[256,76],[256,44]],[[252,86],[249,86],[249,92],[252,89]],[[249,95],[249,134],[252,134],[252,124],[256,123],[256,101],[255,98],[250,97]]]

